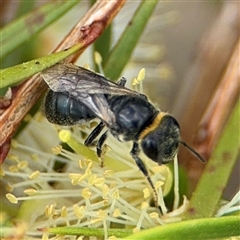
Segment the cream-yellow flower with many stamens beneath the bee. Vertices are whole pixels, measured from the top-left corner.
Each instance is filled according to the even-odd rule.
[[[107,238],[112,228],[134,232],[171,221],[168,215],[161,217],[158,208],[151,205],[152,190],[130,157],[131,146],[113,138],[108,141],[112,144],[106,147],[102,168],[94,149],[86,152],[80,143],[89,131],[87,127],[67,130],[66,142],[71,145],[77,141],[75,153],[66,143],[59,145],[57,133],[61,135],[62,131],[39,113],[12,142],[1,176],[6,198],[11,202],[10,213],[6,214],[19,223],[14,227],[15,233],[20,228],[21,237],[47,239],[52,236],[46,234],[48,229],[71,226],[102,229]],[[91,154],[95,159],[89,158]],[[149,160],[146,165],[166,213],[163,192],[167,193],[172,185],[172,173],[168,167]],[[6,198],[3,205],[9,206]]]

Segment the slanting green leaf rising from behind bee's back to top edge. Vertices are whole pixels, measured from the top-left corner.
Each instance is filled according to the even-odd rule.
[[[128,27],[103,65],[104,73],[108,78],[117,79],[120,76],[157,3],[158,1],[142,1],[137,11],[133,14]]]

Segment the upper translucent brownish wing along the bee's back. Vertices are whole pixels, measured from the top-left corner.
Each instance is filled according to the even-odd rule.
[[[56,64],[42,72],[42,77],[54,92],[79,94],[140,95],[138,92],[119,86],[85,68],[73,64]]]

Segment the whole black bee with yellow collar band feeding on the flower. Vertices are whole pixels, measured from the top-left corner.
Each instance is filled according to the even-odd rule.
[[[179,124],[168,113],[156,109],[148,98],[125,86],[126,79],[114,83],[105,77],[73,64],[56,64],[42,72],[50,90],[45,99],[47,119],[59,125],[75,125],[99,118],[85,145],[91,146],[103,128],[108,128],[97,142],[97,155],[108,131],[119,141],[133,141],[130,152],[158,197],[148,170],[139,158],[140,148],[159,165],[172,161],[183,144],[202,162],[204,159],[180,138]]]

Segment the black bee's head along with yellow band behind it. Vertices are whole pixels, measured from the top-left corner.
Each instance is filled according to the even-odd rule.
[[[142,151],[160,164],[172,161],[178,152],[180,128],[171,115],[159,113],[140,136]]]

